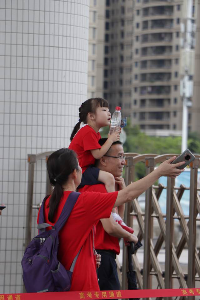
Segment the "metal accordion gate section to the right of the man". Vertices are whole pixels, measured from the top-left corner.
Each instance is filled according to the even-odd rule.
[[[174,154],[165,154],[157,156],[156,154],[138,155],[137,153],[126,153],[125,183],[126,185],[134,181],[135,165],[138,162],[144,162],[146,166],[146,175],[154,170],[157,163],[161,163]],[[145,193],[145,213],[142,212],[138,200],[133,199],[126,204],[124,221],[128,226],[133,226],[133,216],[136,216],[139,226],[138,239],[144,241],[144,262],[143,276],[141,274],[137,253],[133,255],[133,263],[138,279],[140,289],[149,289],[152,287],[151,275],[156,275],[159,288],[173,288],[172,280],[177,278],[182,288],[195,287],[195,281],[200,278],[200,252],[196,248],[196,220],[197,214],[200,214],[200,197],[197,189],[197,172],[200,167],[199,155],[190,164],[190,188],[184,185],[174,187],[174,179],[167,178],[167,187],[163,184],[150,187]],[[159,205],[159,197],[163,189],[167,189],[166,214],[164,215]],[[186,189],[190,190],[189,216],[184,216],[180,200]],[[176,213],[176,215],[175,215]],[[160,227],[160,235],[155,246],[153,245],[153,218],[157,218]],[[166,219],[166,221],[165,221]],[[183,231],[183,235],[175,248],[173,243],[173,225],[174,219],[178,219]],[[189,221],[186,222],[186,219]],[[165,271],[161,270],[158,262],[158,254],[165,241]],[[179,263],[179,257],[183,248],[188,247],[188,274],[187,281],[185,274]],[[127,288],[127,251],[123,246],[123,265],[122,265],[122,288]],[[119,270],[118,270],[118,273]],[[163,278],[164,277],[164,278]],[[121,277],[120,277],[121,279]],[[181,297],[180,299],[182,299]],[[184,297],[185,298],[185,297]],[[187,297],[194,299],[194,296]],[[162,298],[159,298],[162,299]],[[170,298],[167,298],[170,300]]]

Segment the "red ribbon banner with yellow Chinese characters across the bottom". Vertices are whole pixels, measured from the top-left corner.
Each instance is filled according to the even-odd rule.
[[[86,291],[86,292],[47,292],[0,294],[0,300],[97,300],[127,299],[149,297],[199,296],[200,288],[157,289],[157,290],[120,290],[120,291]]]

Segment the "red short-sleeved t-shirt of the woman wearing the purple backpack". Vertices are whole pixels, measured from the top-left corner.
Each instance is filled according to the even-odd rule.
[[[58,220],[70,191],[63,193],[55,214],[55,222]],[[118,192],[92,193],[83,192],[79,195],[76,204],[63,228],[59,232],[58,260],[69,270],[74,257],[83,245],[76,261],[70,291],[95,291],[99,290],[96,257],[93,254],[93,225],[100,218],[110,217]],[[49,199],[45,202],[45,222],[49,222]],[[39,212],[37,223],[39,219]],[[50,227],[49,227],[50,228]]]

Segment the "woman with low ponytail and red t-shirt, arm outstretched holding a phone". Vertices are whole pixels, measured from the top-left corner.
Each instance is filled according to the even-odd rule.
[[[175,157],[164,163],[137,182],[129,184],[119,192],[82,192],[73,207],[63,228],[59,231],[58,260],[66,270],[78,254],[75,263],[70,291],[98,291],[96,256],[93,251],[94,224],[100,219],[109,218],[113,207],[137,198],[160,176],[175,178],[184,170],[177,167],[185,162],[171,164]],[[44,219],[52,226],[57,222],[64,204],[71,192],[76,191],[81,182],[82,170],[76,153],[68,148],[53,152],[47,160],[47,171],[54,186],[52,195],[44,204]],[[38,212],[38,218],[39,219]],[[51,228],[51,227],[50,227]],[[50,229],[49,228],[49,229]],[[48,229],[48,228],[47,228]],[[133,241],[132,238],[129,241]]]

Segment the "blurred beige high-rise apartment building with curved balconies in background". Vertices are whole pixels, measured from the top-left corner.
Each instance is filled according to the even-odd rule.
[[[180,134],[183,107],[180,97],[183,1],[92,2],[97,4],[98,20],[98,63],[93,75],[98,89],[93,89],[93,95],[108,99],[111,111],[116,105],[120,105],[123,116],[131,117],[134,125],[138,124],[149,134],[155,134],[156,130],[162,130],[166,134]],[[200,21],[196,18],[197,8],[200,7],[198,2],[193,3],[193,22],[197,20],[197,29],[194,92],[188,114],[188,126],[192,131],[200,129]],[[101,5],[101,9],[98,5]],[[92,5],[90,10],[92,17]],[[90,41],[92,36],[93,29],[90,28]],[[88,73],[88,92],[92,91],[91,83],[93,81]]]

